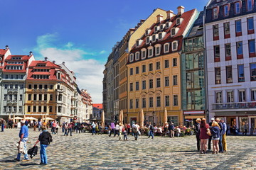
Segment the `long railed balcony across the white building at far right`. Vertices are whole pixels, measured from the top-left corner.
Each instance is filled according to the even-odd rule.
[[[256,108],[256,101],[238,103],[214,103],[213,110]]]

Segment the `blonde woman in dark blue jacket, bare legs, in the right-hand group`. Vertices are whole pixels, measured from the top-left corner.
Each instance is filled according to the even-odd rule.
[[[212,139],[213,139],[213,154],[218,154],[219,152],[219,145],[218,142],[220,140],[220,126],[218,125],[217,122],[212,123],[212,128],[211,128],[211,134],[212,134]]]

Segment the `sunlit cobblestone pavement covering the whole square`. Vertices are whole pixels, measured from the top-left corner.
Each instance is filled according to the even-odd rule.
[[[29,133],[31,148],[39,132]],[[14,162],[17,141],[17,129],[0,132],[0,169],[256,169],[255,136],[228,136],[228,152],[199,154],[195,136],[118,141],[107,135],[59,133],[47,148],[46,166],[39,165],[39,154],[29,162]]]

